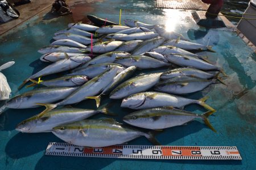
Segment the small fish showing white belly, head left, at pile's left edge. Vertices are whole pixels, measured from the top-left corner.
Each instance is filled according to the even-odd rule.
[[[56,62],[56,61],[60,61],[61,59],[65,59],[73,56],[88,56],[88,54],[55,52],[55,53],[44,54],[43,56],[40,57],[40,60],[43,62]]]

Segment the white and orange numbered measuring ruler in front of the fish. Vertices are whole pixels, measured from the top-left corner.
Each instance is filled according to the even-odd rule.
[[[242,160],[236,146],[143,146],[81,147],[50,142],[45,155],[126,159]]]

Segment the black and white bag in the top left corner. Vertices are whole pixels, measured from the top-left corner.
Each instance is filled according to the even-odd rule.
[[[6,0],[0,0],[0,22],[7,22],[19,18],[19,11]]]

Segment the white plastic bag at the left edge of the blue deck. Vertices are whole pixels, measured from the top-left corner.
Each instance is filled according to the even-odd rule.
[[[14,65],[14,61],[10,61],[5,63],[4,65],[0,66],[0,71],[7,69],[8,67]],[[7,79],[5,77],[5,75],[3,75],[0,72],[0,100],[7,100],[9,99],[11,94],[11,88],[9,86],[9,84],[7,83]]]

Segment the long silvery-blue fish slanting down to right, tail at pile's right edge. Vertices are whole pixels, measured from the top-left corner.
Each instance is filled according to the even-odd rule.
[[[181,67],[193,67],[200,70],[218,70],[226,76],[224,70],[220,67],[214,66],[209,62],[204,61],[196,57],[187,56],[184,54],[166,54],[164,55],[171,63],[175,63]]]

